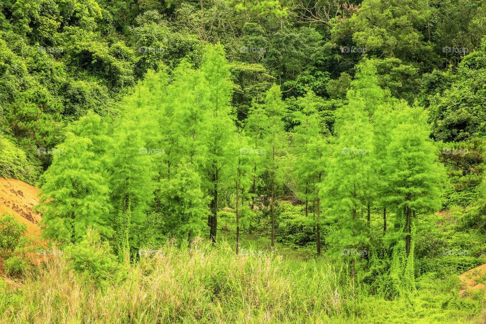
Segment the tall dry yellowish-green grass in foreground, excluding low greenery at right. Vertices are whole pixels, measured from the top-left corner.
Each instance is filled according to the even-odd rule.
[[[204,241],[142,256],[106,289],[68,267],[55,254],[25,280],[23,306],[5,311],[1,321],[337,323],[357,296],[343,269],[273,254],[236,256],[226,244],[214,248]]]

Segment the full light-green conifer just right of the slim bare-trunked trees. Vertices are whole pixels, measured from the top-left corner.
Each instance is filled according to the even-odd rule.
[[[351,277],[355,276],[356,250],[368,242],[366,225],[358,211],[369,202],[369,187],[373,183],[373,127],[365,100],[354,90],[348,91],[348,104],[336,111],[336,139],[321,196],[338,228],[329,240],[333,250],[347,255]]]

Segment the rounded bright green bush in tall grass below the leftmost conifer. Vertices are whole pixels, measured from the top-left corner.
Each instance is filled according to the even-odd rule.
[[[93,229],[88,229],[79,243],[67,247],[66,253],[70,269],[98,288],[105,288],[122,276],[122,267],[111,253],[108,242],[101,241],[100,235]]]

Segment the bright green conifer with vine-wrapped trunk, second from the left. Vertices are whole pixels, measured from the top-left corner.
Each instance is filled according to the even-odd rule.
[[[151,106],[149,87],[139,85],[134,94],[125,99],[125,113],[117,121],[112,137],[110,186],[116,217],[116,251],[120,262],[129,262],[129,248],[136,246],[136,237],[129,243],[130,227],[144,219],[148,203],[153,199],[156,170],[152,167],[158,152],[147,149],[153,142],[150,131],[156,129],[153,119],[147,120]],[[150,148],[150,147],[149,147]],[[136,233],[134,233],[136,234]]]

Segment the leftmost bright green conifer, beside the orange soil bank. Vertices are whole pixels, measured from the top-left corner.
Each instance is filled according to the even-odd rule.
[[[110,237],[109,187],[105,177],[106,125],[94,112],[73,123],[66,139],[54,150],[53,162],[44,173],[41,205],[44,235],[61,242],[75,242],[88,226]]]

